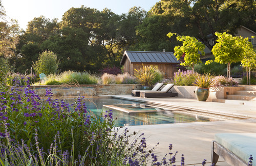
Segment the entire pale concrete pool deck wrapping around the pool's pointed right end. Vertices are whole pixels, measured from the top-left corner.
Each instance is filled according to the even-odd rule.
[[[246,102],[245,105],[238,101],[229,103],[200,102],[196,99],[166,97],[166,98],[141,98],[131,95],[115,95],[113,97],[144,101],[165,106],[181,106],[201,112],[240,117],[243,120],[228,120],[219,122],[196,122],[159,124],[147,126],[129,126],[130,131],[143,132],[148,147],[160,143],[155,154],[162,156],[169,153],[168,146],[173,144],[172,152],[177,154],[177,165],[180,164],[181,154],[184,154],[185,165],[206,165],[211,161],[211,144],[216,133],[255,133],[256,132],[256,101]],[[228,165],[219,158],[217,165]]]

